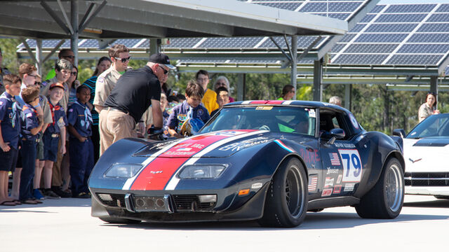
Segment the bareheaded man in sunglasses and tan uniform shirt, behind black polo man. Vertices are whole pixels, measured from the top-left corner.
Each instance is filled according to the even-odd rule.
[[[95,106],[95,111],[98,113],[104,109],[107,97],[121,76],[120,72],[123,73],[128,68],[130,59],[129,49],[125,45],[116,44],[112,48],[109,48],[109,57],[112,61],[111,67],[102,72],[95,83],[93,105]]]

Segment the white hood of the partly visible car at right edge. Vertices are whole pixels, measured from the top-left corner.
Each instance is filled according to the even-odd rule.
[[[447,172],[449,138],[403,139],[406,172]]]

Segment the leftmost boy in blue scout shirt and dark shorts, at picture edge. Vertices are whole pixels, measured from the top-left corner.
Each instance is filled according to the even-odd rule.
[[[22,80],[15,74],[7,74],[3,79],[6,91],[0,94],[0,205],[2,206],[15,206],[15,201],[8,197],[8,172],[14,171],[18,158],[20,109],[15,103],[14,96],[20,94],[21,82]]]

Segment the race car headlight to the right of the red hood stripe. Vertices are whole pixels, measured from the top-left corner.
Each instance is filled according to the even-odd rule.
[[[178,175],[180,179],[216,179],[227,165],[187,165]]]

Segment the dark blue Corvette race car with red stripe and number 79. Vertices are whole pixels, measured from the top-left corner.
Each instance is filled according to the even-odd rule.
[[[89,179],[92,216],[295,227],[307,211],[353,206],[362,218],[395,218],[404,198],[401,148],[340,106],[234,102],[192,137],[110,146]]]

